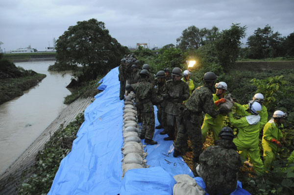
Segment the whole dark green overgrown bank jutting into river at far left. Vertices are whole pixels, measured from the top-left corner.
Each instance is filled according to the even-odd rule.
[[[23,91],[37,85],[45,77],[45,74],[16,67],[0,54],[0,104],[22,96]]]

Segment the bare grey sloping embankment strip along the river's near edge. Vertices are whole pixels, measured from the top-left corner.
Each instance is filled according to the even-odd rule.
[[[17,195],[17,182],[21,179],[23,171],[34,164],[35,156],[50,136],[59,128],[60,124],[66,126],[74,121],[76,115],[83,112],[92,102],[92,97],[77,99],[65,108],[60,115],[45,129],[45,131],[25,150],[25,152],[0,175],[0,195]]]

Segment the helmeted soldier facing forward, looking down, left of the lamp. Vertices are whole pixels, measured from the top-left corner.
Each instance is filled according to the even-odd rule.
[[[167,81],[163,89],[163,98],[167,101],[165,112],[167,113],[167,131],[169,137],[164,138],[166,141],[174,140],[175,138],[174,123],[176,123],[177,137],[185,134],[180,108],[183,106],[182,102],[190,97],[188,84],[181,80],[182,70],[176,67],[172,70],[172,75],[173,79]],[[175,150],[176,147],[179,146],[174,145]]]

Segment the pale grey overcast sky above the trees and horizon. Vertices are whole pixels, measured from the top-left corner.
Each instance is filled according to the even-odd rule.
[[[123,46],[153,48],[176,45],[191,25],[223,30],[241,23],[249,36],[270,24],[287,36],[294,32],[294,0],[0,0],[0,47],[43,50],[69,26],[91,18],[104,22]]]

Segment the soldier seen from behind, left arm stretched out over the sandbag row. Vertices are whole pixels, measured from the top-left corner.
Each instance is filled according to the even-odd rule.
[[[140,77],[142,79],[138,84],[127,85],[127,91],[134,91],[136,94],[136,104],[137,108],[140,109],[142,113],[142,133],[140,138],[145,139],[146,144],[154,145],[157,142],[153,141],[154,135],[154,108],[152,100],[156,99],[156,93],[154,87],[148,80],[148,71],[142,70],[140,72]]]

